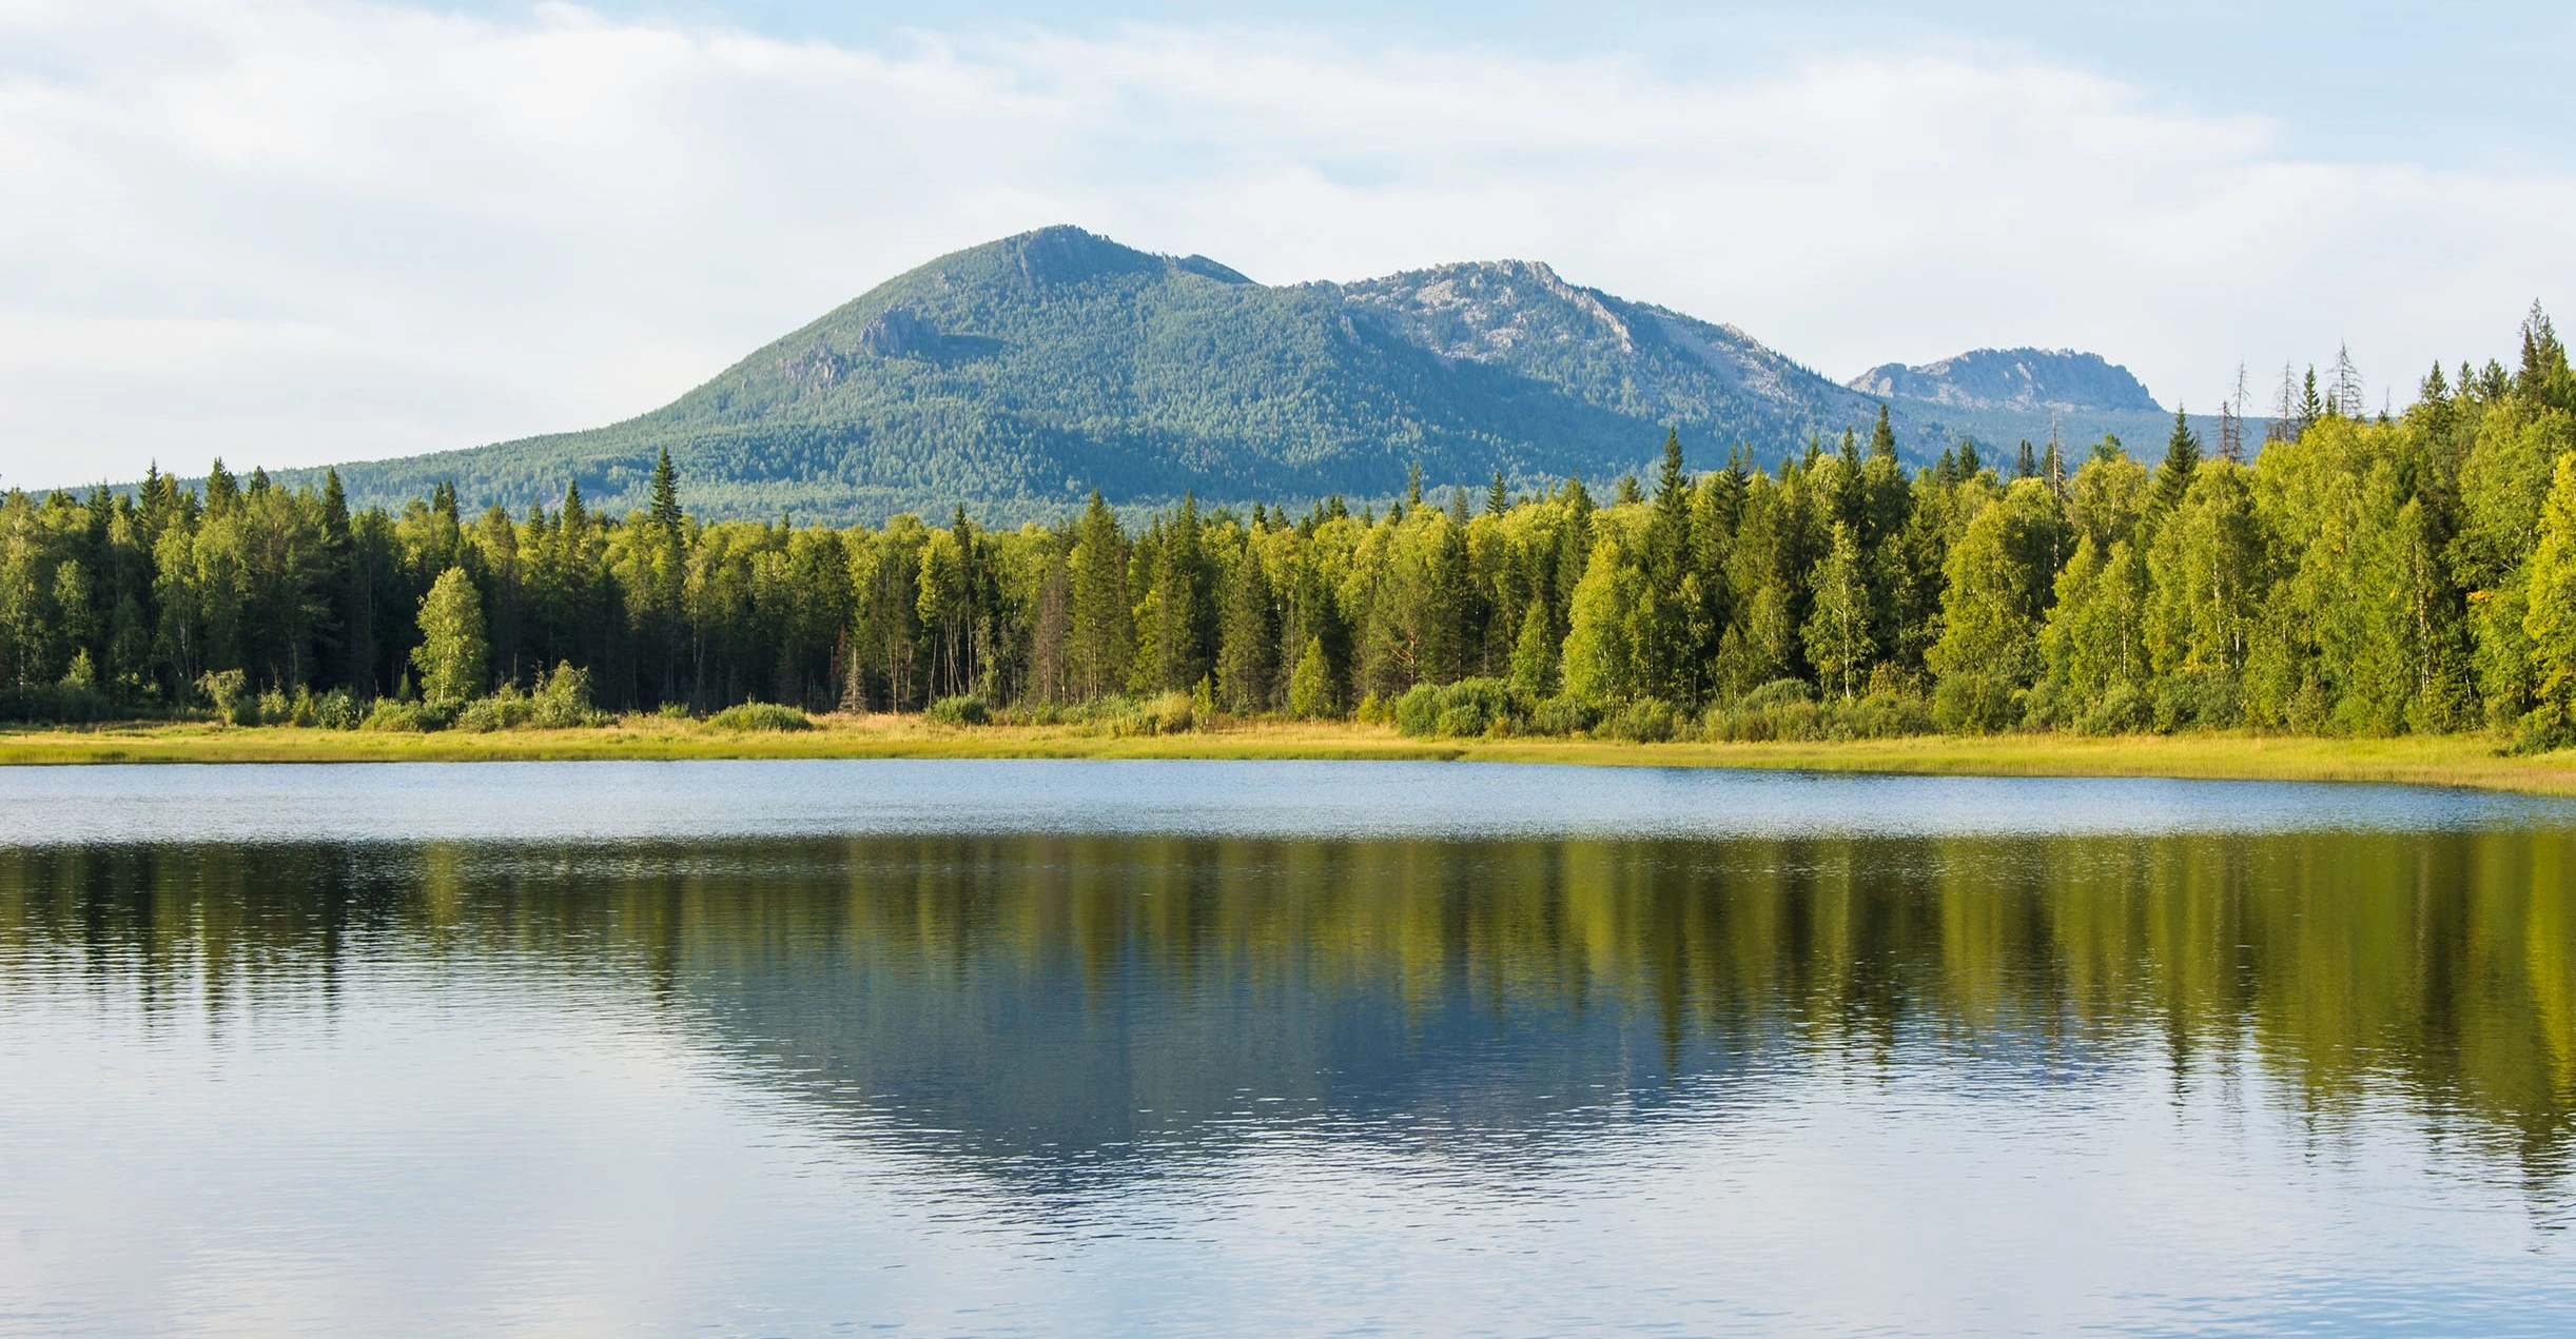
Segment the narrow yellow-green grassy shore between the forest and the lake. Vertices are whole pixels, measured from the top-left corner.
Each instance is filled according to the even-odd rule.
[[[2143,775],[2380,780],[2576,796],[2576,752],[2499,757],[2483,736],[2282,739],[2241,734],[2004,734],[1852,744],[1615,744],[1597,739],[1404,739],[1388,726],[1239,724],[1162,736],[1064,726],[945,729],[920,716],[822,716],[809,731],[719,731],[629,716],[613,726],[371,734],[289,726],[108,724],[0,729],[0,765],[31,762],[536,762],[672,757],[1303,757],[1770,767],[1914,775]]]

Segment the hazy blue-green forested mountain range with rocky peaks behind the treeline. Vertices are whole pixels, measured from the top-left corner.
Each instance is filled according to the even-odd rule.
[[[2058,404],[2063,399],[2063,404]],[[1388,497],[1412,466],[1481,492],[1646,471],[1677,430],[1692,469],[1868,433],[1899,448],[2151,427],[2146,389],[2094,355],[1971,353],[1839,386],[1731,324],[1566,283],[1540,263],[1265,286],[1208,258],[1048,227],[943,255],[649,415],[513,443],[340,466],[358,505],[453,479],[466,505],[554,505],[577,479],[644,505],[670,451],[706,518],[1048,520],[1118,505]],[[2143,409],[2141,409],[2143,407]],[[1989,453],[1989,458],[1994,458]],[[234,461],[242,466],[245,461]],[[319,471],[289,471],[307,482]]]

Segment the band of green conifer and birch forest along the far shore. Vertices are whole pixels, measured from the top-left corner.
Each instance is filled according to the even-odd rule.
[[[2576,373],[2434,366],[2401,415],[2311,371],[2161,451],[1873,433],[1765,469],[1056,525],[526,515],[337,476],[0,497],[0,716],[307,726],[603,711],[974,724],[1365,718],[1409,734],[2496,731],[2576,742]],[[2257,438],[2259,440],[2249,440]]]

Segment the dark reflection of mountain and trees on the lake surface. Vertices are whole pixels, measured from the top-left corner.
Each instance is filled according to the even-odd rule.
[[[1901,1058],[2262,1066],[2566,1174],[2563,832],[0,850],[36,963],[162,1015],[353,963],[649,991],[819,1123],[1041,1174],[1283,1123],[1497,1138]],[[1692,1097],[1698,1092],[1700,1097]]]

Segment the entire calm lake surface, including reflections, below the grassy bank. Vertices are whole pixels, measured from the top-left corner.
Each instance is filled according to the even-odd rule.
[[[8,1334],[2571,1334],[2571,1112],[2553,801],[0,770]]]

